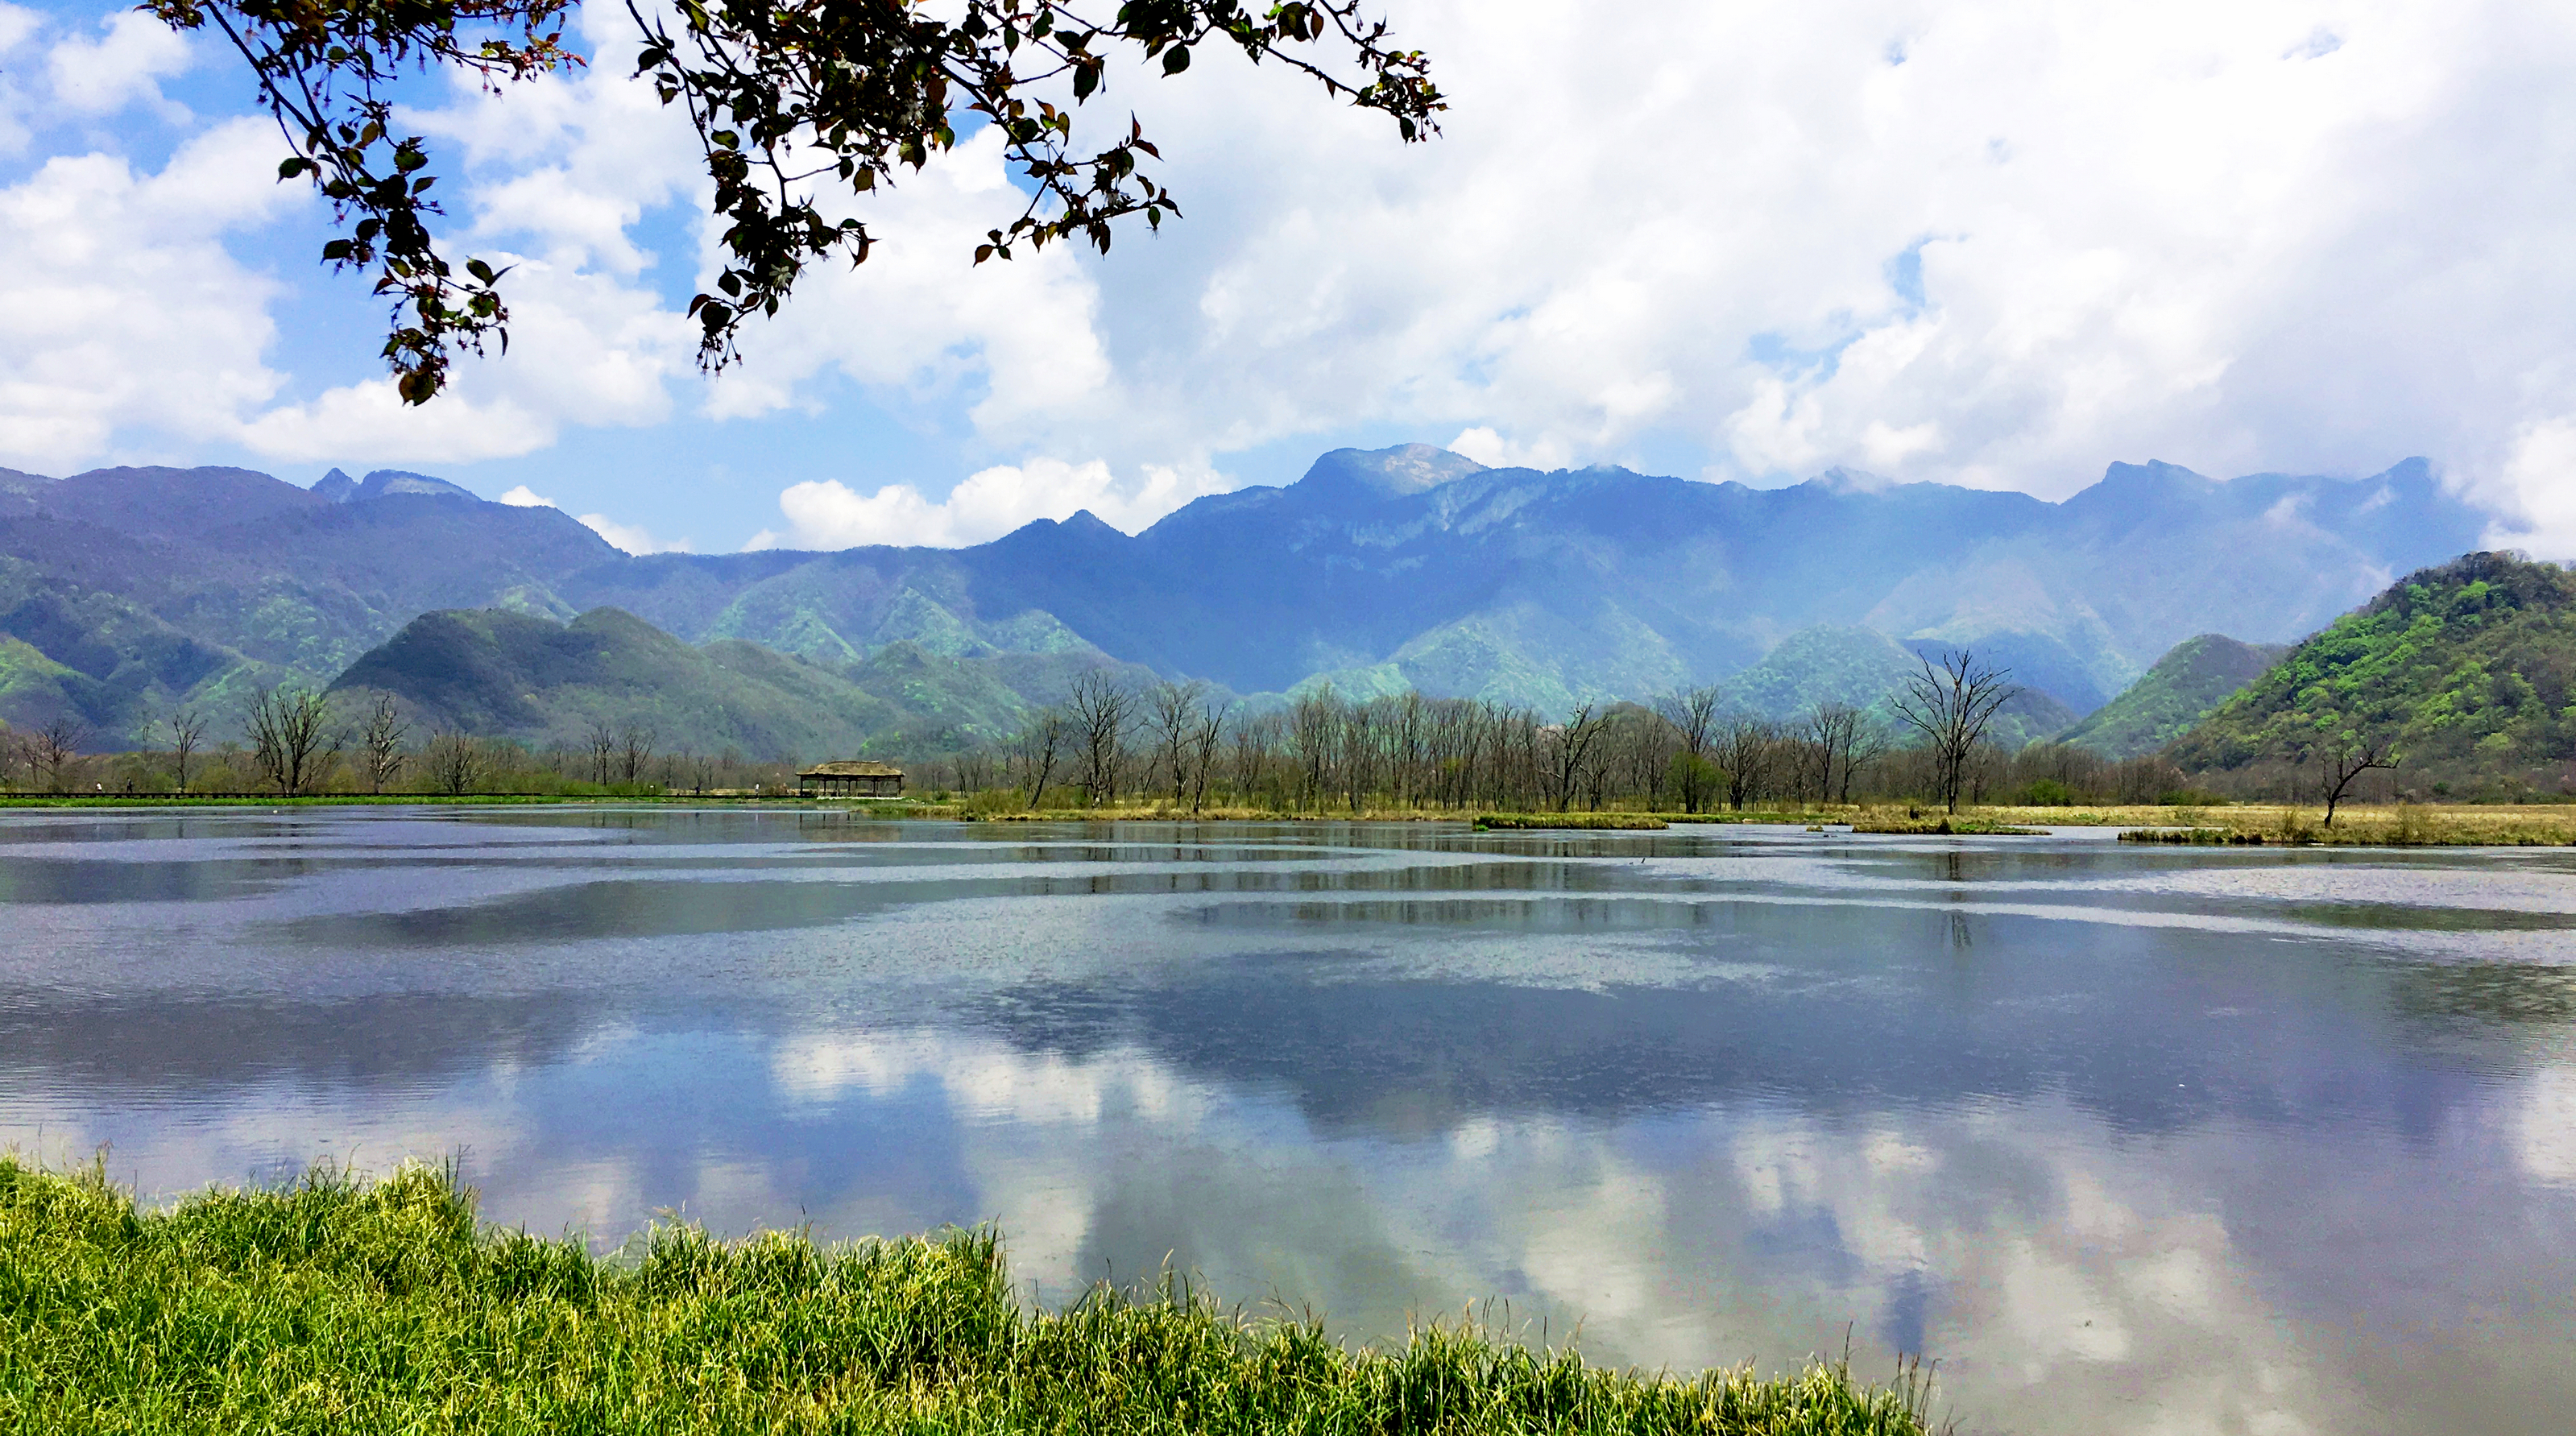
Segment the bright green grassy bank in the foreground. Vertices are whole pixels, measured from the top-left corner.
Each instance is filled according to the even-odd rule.
[[[139,1210],[0,1155],[0,1431],[1911,1436],[1924,1405],[1914,1372],[1680,1379],[1479,1328],[1350,1351],[1170,1282],[1028,1312],[987,1230],[603,1261],[420,1166]]]

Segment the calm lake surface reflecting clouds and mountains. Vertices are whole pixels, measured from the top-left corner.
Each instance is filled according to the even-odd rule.
[[[0,1143],[997,1220],[1971,1431],[2566,1431],[2576,860],[1788,829],[0,816]],[[1499,1307],[1497,1307],[1499,1315]]]

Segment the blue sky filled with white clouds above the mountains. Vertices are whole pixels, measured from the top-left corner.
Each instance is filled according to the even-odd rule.
[[[1185,219],[976,268],[992,134],[858,208],[721,378],[696,152],[598,64],[412,90],[507,358],[404,409],[381,306],[242,62],[0,0],[0,466],[415,468],[629,551],[1141,530],[1314,456],[1437,443],[2061,499],[2112,461],[2372,474],[2576,558],[2576,5],[1381,0],[1450,95],[1401,144],[1213,49],[1118,72]]]

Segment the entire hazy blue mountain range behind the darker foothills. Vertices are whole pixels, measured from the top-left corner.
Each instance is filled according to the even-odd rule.
[[[2228,481],[2115,463],[2043,502],[1850,471],[1785,489],[1540,474],[1401,445],[1327,453],[1296,484],[1206,497],[1139,535],[1082,512],[976,548],[626,556],[556,510],[402,471],[312,489],[242,468],[0,471],[0,718],[72,713],[121,739],[175,703],[232,713],[258,685],[337,682],[433,610],[580,628],[613,607],[737,674],[719,646],[860,692],[884,654],[935,661],[909,710],[884,692],[884,713],[853,708],[868,731],[981,728],[1002,721],[994,695],[1025,703],[1108,661],[1236,695],[1334,682],[1561,710],[1721,682],[1793,710],[1870,700],[1911,654],[1973,646],[2032,690],[2017,723],[2040,736],[2184,638],[2295,641],[2486,525],[2424,461]]]

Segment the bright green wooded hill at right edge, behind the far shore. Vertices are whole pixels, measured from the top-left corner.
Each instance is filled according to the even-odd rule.
[[[2406,576],[2295,646],[2169,754],[2187,769],[2300,762],[2357,736],[2450,793],[2558,787],[2576,757],[2576,574],[2470,553]]]

